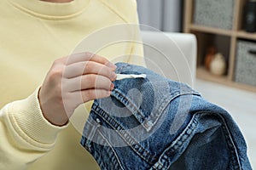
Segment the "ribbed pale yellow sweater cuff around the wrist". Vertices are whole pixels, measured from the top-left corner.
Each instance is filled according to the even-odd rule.
[[[55,143],[57,134],[67,127],[58,127],[48,122],[40,109],[38,90],[28,98],[15,101],[9,108],[9,121],[15,131],[26,142],[33,145],[51,145]]]

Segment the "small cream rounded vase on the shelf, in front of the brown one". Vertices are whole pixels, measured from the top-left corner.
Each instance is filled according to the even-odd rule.
[[[226,62],[223,54],[215,54],[210,64],[210,71],[214,75],[222,76],[226,71]]]

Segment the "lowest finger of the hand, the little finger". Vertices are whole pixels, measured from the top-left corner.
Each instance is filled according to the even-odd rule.
[[[110,96],[110,94],[111,92],[108,90],[91,88],[73,92],[71,95],[73,99],[76,99],[78,106],[93,99],[107,98]]]

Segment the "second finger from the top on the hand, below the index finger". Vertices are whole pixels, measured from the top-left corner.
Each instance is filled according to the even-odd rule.
[[[66,78],[79,77],[85,74],[102,75],[104,77],[108,77],[112,81],[116,77],[116,74],[108,66],[94,61],[84,61],[67,65],[64,71],[64,77]]]

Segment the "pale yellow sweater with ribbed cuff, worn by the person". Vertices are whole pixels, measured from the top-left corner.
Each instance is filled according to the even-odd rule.
[[[42,116],[38,87],[55,59],[81,51],[143,65],[128,26],[136,0],[1,0],[0,14],[0,169],[98,169],[79,144],[90,105],[56,127]]]

